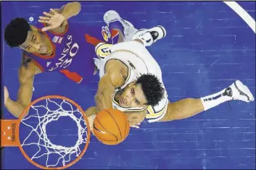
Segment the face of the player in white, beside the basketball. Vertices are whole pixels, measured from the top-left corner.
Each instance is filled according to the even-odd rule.
[[[141,85],[136,85],[131,82],[120,95],[118,100],[120,106],[123,107],[144,107],[146,106],[146,96],[141,88]]]

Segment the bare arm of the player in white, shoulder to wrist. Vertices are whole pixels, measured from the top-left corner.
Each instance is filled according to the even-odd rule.
[[[115,88],[120,88],[125,79],[123,77],[123,64],[112,59],[105,67],[106,74],[99,80],[98,90],[94,97],[98,111],[112,108],[112,94]]]

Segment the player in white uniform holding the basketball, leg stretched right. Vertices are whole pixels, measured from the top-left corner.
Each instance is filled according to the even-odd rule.
[[[118,14],[116,16],[119,17]],[[145,118],[148,122],[186,119],[226,101],[254,101],[249,88],[239,80],[218,93],[202,98],[168,101],[160,66],[145,48],[165,35],[161,26],[141,30],[133,35],[134,41],[109,46],[108,50],[104,49],[107,53],[103,56],[97,54],[102,59],[96,61],[101,78],[95,96],[96,107],[86,111],[91,127],[95,117],[91,114],[109,108],[124,111],[131,127],[139,128]],[[100,48],[101,44],[96,46],[96,51]]]

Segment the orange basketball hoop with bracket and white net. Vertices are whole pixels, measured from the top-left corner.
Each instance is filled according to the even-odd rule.
[[[41,109],[45,111],[40,111]],[[25,115],[28,111],[29,114]],[[73,139],[77,137],[78,140],[69,146],[54,143],[53,139],[59,140],[58,135],[64,131],[61,129],[57,135],[49,135],[57,129],[49,130],[49,124],[65,120],[69,123],[61,125],[69,127],[72,124],[70,119],[77,126],[77,132],[73,129],[70,132],[74,132]],[[86,152],[90,140],[89,128],[85,112],[75,101],[60,95],[47,95],[30,103],[19,119],[1,119],[0,146],[19,147],[22,155],[38,168],[66,169],[79,161]]]

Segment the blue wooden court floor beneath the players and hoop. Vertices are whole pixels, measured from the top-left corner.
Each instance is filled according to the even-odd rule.
[[[1,2],[4,27],[15,17],[34,17],[66,2]],[[255,20],[255,1],[238,2]],[[162,68],[170,101],[209,95],[235,80],[255,96],[255,33],[222,1],[83,1],[70,22],[104,25],[104,12],[114,9],[137,28],[162,25],[167,36],[149,47]],[[1,30],[3,33],[3,30]],[[3,41],[3,40],[2,40]],[[20,50],[4,43],[4,85],[17,98]],[[99,77],[76,85],[58,73],[36,75],[33,100],[43,95],[65,95],[83,109],[94,105]],[[202,114],[173,122],[131,129],[116,146],[94,136],[83,158],[70,169],[255,169],[255,102],[231,101]],[[5,119],[14,117],[4,109]],[[57,127],[61,124],[57,124]],[[71,133],[71,132],[70,132]],[[70,135],[64,136],[70,140]],[[15,162],[15,163],[14,163]],[[4,169],[35,169],[18,148],[4,149]]]

